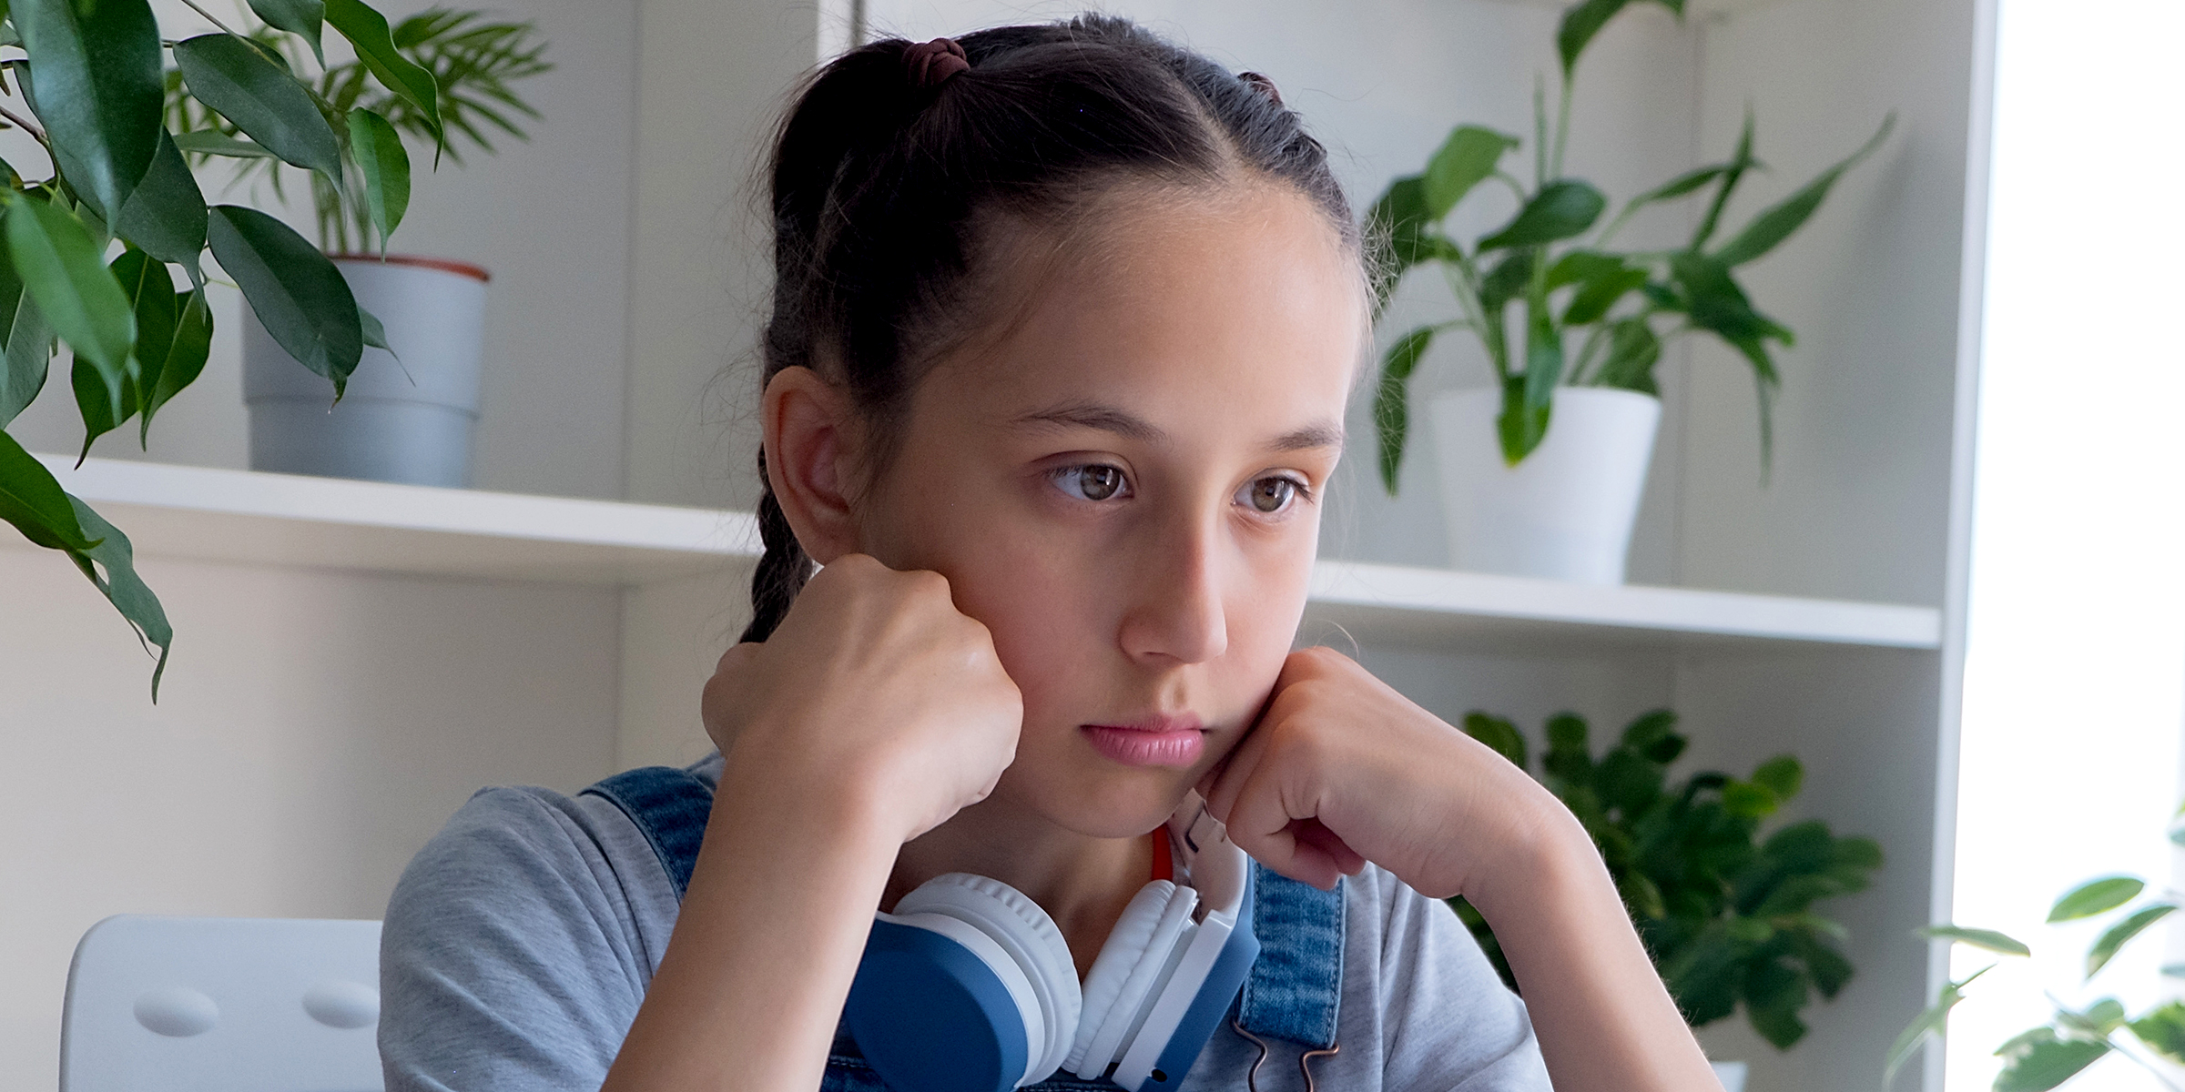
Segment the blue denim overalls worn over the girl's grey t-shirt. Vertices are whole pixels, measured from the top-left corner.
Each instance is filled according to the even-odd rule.
[[[586,793],[605,797],[645,832],[660,865],[675,885],[675,898],[690,885],[697,847],[712,812],[712,784],[690,771],[645,767],[616,773]],[[1259,961],[1230,1007],[1230,1018],[1248,1033],[1287,1040],[1307,1051],[1335,1046],[1335,1009],[1344,987],[1344,889],[1283,878],[1252,863],[1252,933]],[[1027,1085],[1027,1092],[1114,1092],[1110,1081],[1079,1081],[1066,1070]],[[835,1035],[822,1092],[887,1092],[881,1077],[857,1053],[848,1035]]]

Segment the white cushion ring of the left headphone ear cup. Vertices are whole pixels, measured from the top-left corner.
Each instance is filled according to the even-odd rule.
[[[1001,880],[950,871],[902,895],[894,913],[944,915],[992,937],[1031,981],[1040,1007],[1038,1020],[1025,1020],[1029,1070],[1020,1083],[1038,1081],[1062,1066],[1077,1031],[1082,998],[1071,946],[1047,911]]]

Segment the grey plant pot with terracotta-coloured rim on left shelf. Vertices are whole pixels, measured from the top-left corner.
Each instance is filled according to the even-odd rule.
[[[365,347],[341,404],[326,378],[243,321],[243,402],[251,470],[470,485],[485,339],[485,271],[433,258],[334,258],[356,304],[387,325],[387,349]],[[245,308],[249,310],[249,308]]]

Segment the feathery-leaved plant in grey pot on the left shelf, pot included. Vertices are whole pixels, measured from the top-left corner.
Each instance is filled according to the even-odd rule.
[[[387,347],[365,349],[332,408],[326,384],[295,369],[262,321],[245,323],[251,470],[465,487],[479,419],[487,273],[470,262],[387,253],[387,236],[409,205],[404,138],[435,144],[446,131],[448,140],[435,151],[457,166],[465,146],[494,151],[492,129],[527,140],[522,124],[538,111],[511,85],[553,66],[531,22],[496,22],[476,11],[435,7],[393,24],[389,37],[433,74],[437,118],[369,79],[369,55],[326,63],[315,39],[275,26],[249,31],[258,50],[223,48],[223,57],[208,59],[205,50],[177,48],[166,76],[166,116],[181,133],[184,153],[199,164],[234,157],[238,179],[271,181],[275,194],[284,194],[286,170],[304,170],[319,247],[365,312],[387,323]],[[275,72],[310,72],[312,66],[319,74],[308,83]],[[251,124],[258,103],[214,94],[251,83],[308,87],[308,94],[282,94],[297,122],[308,120],[306,105],[323,105],[319,114],[328,122],[345,118],[347,131]],[[374,175],[378,186],[371,186]],[[367,253],[374,249],[378,253]]]

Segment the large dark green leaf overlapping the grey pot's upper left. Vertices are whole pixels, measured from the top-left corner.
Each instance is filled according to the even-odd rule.
[[[243,205],[212,205],[212,256],[243,288],[273,341],[304,367],[334,380],[341,400],[365,354],[356,295],[319,247],[293,227]]]

